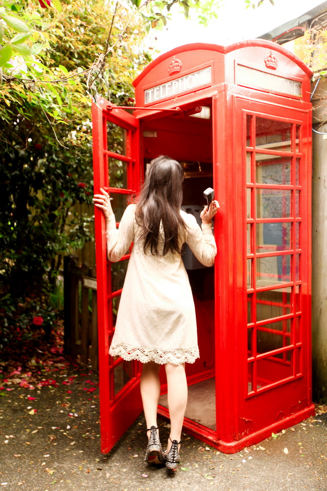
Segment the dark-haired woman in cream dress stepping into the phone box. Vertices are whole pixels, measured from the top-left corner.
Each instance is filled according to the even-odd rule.
[[[140,387],[149,439],[145,460],[173,470],[179,463],[187,403],[185,362],[194,363],[199,357],[195,307],[182,246],[187,243],[204,266],[213,265],[217,252],[211,220],[218,203],[204,207],[201,230],[193,215],[180,210],[183,177],[181,165],[170,157],[152,160],[137,204],[127,206],[119,230],[108,193],[101,189],[102,194],[94,197],[106,219],[108,259],[118,261],[134,243],[109,354],[143,363]],[[163,364],[171,419],[165,453],[157,428]]]

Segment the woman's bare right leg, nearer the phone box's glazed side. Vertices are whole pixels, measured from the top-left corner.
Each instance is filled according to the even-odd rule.
[[[185,375],[185,363],[182,365],[165,365],[168,384],[168,408],[170,415],[170,438],[180,440],[185,409],[187,404],[187,382]],[[167,451],[172,443],[168,440]]]

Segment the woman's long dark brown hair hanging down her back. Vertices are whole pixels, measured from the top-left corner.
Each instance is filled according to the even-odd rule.
[[[182,166],[176,160],[161,155],[151,161],[136,207],[144,252],[149,247],[151,254],[156,256],[165,256],[169,251],[181,252],[178,236],[186,230],[180,215],[183,179]],[[160,222],[164,230],[162,251],[159,250]]]

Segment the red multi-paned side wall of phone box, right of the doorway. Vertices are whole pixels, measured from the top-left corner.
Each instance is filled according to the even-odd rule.
[[[248,345],[247,354],[239,356],[248,368],[239,394],[243,436],[250,420],[251,430],[258,430],[291,407],[303,413],[301,421],[311,399],[308,106],[299,111],[256,103],[254,108],[236,100],[243,127],[237,158],[243,161],[246,191],[242,286],[247,305],[238,312]]]

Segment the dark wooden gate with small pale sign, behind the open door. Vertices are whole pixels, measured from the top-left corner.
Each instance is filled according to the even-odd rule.
[[[64,351],[99,370],[97,280],[95,267],[64,257]]]

